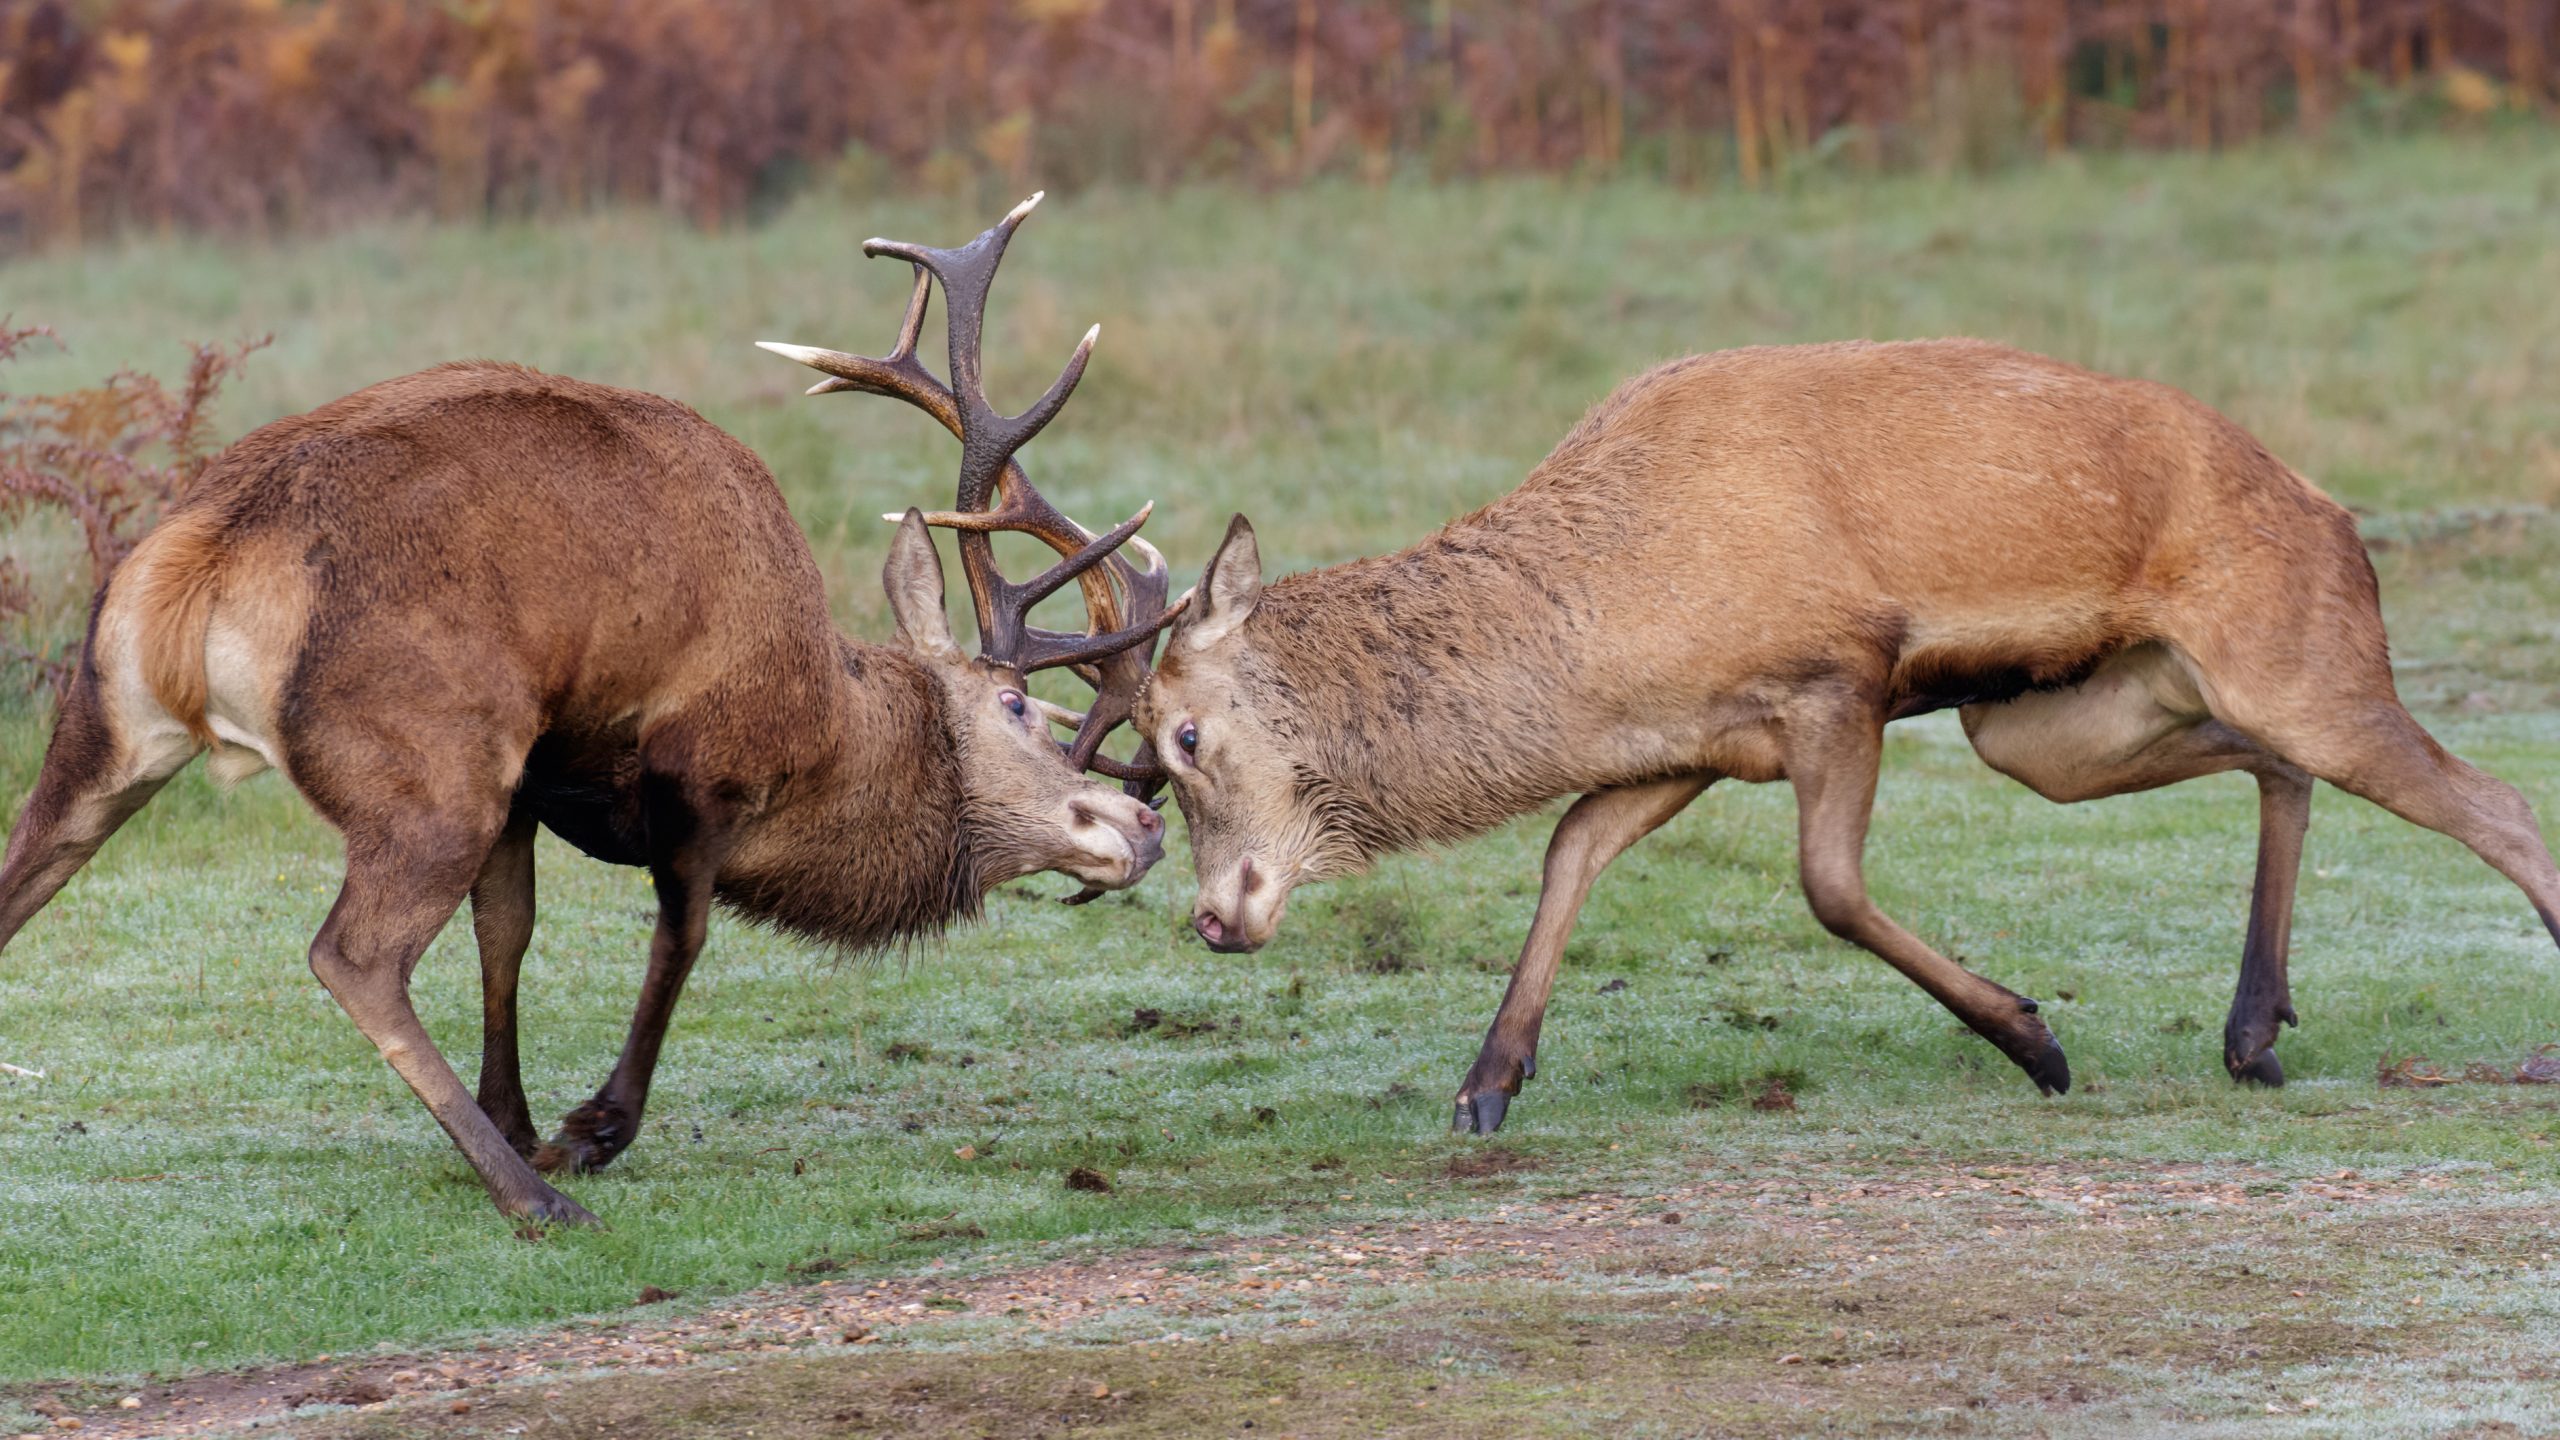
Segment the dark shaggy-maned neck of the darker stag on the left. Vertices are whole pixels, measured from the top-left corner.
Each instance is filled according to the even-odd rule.
[[[870,951],[978,915],[942,689],[904,651],[842,641],[832,735],[722,871],[742,915]]]

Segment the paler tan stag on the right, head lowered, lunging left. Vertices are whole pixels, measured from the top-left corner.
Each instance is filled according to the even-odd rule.
[[[1221,951],[1270,940],[1303,881],[1580,794],[1457,1094],[1457,1127],[1490,1133],[1536,1071],[1600,869],[1728,776],[1795,787],[1828,930],[2066,1089],[2033,999],[1866,897],[1884,723],[1943,707],[2061,802],[2258,779],[2232,1076],[2284,1076],[2314,776],[2463,840],[2560,917],[2524,799],[2401,707],[2340,505],[2184,392],[1979,341],[1659,366],[1485,510],[1267,589],[1239,515],[1137,720],[1190,820],[1193,925]]]

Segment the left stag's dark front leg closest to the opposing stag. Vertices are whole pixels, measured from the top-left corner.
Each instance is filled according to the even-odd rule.
[[[658,933],[650,935],[648,976],[640,981],[640,1004],[614,1074],[594,1099],[563,1115],[558,1135],[535,1150],[532,1163],[543,1171],[599,1171],[640,1135],[650,1076],[658,1074],[658,1048],[666,1043],[676,999],[694,974],[712,920],[712,881],[727,856],[727,828],[717,825],[707,807],[673,797],[673,781],[653,787],[643,779],[643,787],[653,840],[678,838],[650,863],[650,881],[658,887]]]

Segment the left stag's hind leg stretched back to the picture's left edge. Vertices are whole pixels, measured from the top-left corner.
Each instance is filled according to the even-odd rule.
[[[44,748],[36,792],[8,833],[0,858],[0,945],[46,907],[90,856],[169,781],[197,746],[174,720],[131,725],[118,738],[108,723],[97,671],[82,661]]]

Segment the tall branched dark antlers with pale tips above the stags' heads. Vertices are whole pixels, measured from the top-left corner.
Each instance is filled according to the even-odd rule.
[[[1014,461],[1014,454],[1047,425],[1075,382],[1085,374],[1085,359],[1101,325],[1085,331],[1068,369],[1050,384],[1047,395],[1021,415],[998,415],[986,400],[986,379],[978,366],[978,341],[986,331],[986,295],[1004,264],[1004,246],[1014,228],[1039,205],[1032,195],[998,220],[991,231],[960,249],[914,246],[906,241],[863,241],[865,256],[896,256],[914,266],[916,287],[906,300],[906,320],[899,325],[899,343],[886,356],[852,356],[814,346],[783,346],[758,341],[763,348],[827,372],[809,387],[809,395],[860,389],[906,400],[942,423],[960,438],[960,500],[957,510],[927,515],[929,525],[957,530],[960,569],[968,574],[970,602],[978,612],[978,653],[1016,671],[1070,666],[1093,684],[1093,707],[1083,715],[1057,710],[1052,717],[1073,717],[1075,740],[1068,761],[1129,781],[1132,794],[1152,794],[1165,771],[1155,751],[1139,743],[1129,764],[1101,753],[1103,738],[1129,720],[1139,687],[1147,684],[1147,666],[1155,653],[1155,635],[1180,612],[1167,607],[1170,569],[1165,556],[1137,528],[1147,523],[1155,502],[1121,520],[1111,530],[1093,536],[1032,487]],[[924,333],[924,307],[932,300],[934,279],[942,282],[942,307],[950,320],[952,384],[942,384],[934,372],[916,359],[916,338]],[[998,500],[1001,492],[1001,500]],[[988,507],[991,500],[998,500]],[[888,515],[896,520],[896,515]],[[1027,582],[1009,582],[996,569],[996,530],[1016,530],[1047,543],[1060,561]],[[1134,548],[1144,566],[1129,564],[1121,546]],[[1091,618],[1088,633],[1042,630],[1029,623],[1034,605],[1078,582]],[[1126,605],[1121,594],[1126,592]]]

